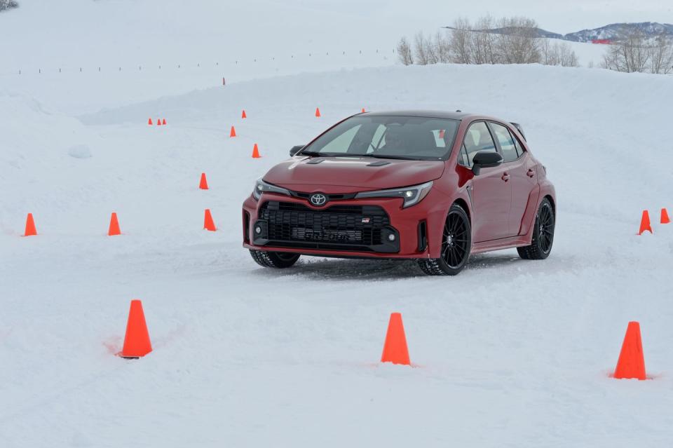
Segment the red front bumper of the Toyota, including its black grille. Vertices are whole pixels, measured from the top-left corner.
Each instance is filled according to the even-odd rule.
[[[327,257],[439,257],[447,198],[431,190],[402,209],[401,198],[349,198],[314,207],[264,193],[243,203],[243,247]]]

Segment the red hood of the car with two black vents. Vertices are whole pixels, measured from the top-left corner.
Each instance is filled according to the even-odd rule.
[[[318,163],[316,163],[318,162]],[[264,176],[271,184],[345,186],[344,193],[423,184],[438,179],[443,161],[407,161],[372,157],[293,157],[278,163]]]

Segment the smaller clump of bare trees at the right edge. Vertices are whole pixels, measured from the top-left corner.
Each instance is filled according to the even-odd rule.
[[[603,58],[603,67],[617,72],[669,74],[673,72],[673,41],[661,34],[625,32]]]

